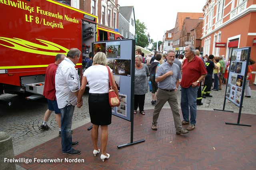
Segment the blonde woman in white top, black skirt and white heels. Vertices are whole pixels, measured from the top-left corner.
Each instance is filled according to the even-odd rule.
[[[82,85],[78,93],[77,107],[82,106],[82,95],[86,88],[86,84],[89,84],[89,113],[92,123],[92,142],[94,146],[93,154],[100,153],[98,148],[98,129],[101,128],[101,146],[102,154],[100,159],[104,162],[104,159],[108,159],[110,154],[106,153],[106,146],[108,142],[108,125],[111,124],[112,111],[108,101],[108,89],[109,89],[109,77],[108,69],[106,67],[106,54],[102,52],[96,53],[93,57],[92,66],[84,71]],[[112,69],[111,81],[113,83],[113,89],[118,96],[118,89],[115,83]]]

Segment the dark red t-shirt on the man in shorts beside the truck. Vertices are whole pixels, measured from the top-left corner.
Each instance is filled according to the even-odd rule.
[[[46,68],[43,96],[49,100],[56,100],[55,74],[58,65],[51,63]]]

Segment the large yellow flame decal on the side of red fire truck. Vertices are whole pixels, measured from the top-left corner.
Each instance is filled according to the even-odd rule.
[[[62,47],[61,45],[58,45],[53,42],[49,42],[46,40],[36,39],[40,43],[43,43],[45,45],[40,45],[37,43],[32,43],[26,40],[22,40],[20,38],[6,38],[6,37],[0,37],[0,40],[8,42],[12,44],[13,46],[5,45],[0,43],[0,45],[3,45],[8,48],[16,49],[19,51],[24,51],[28,53],[35,53],[35,54],[42,54],[42,55],[53,55],[56,56],[58,53],[66,53],[69,49]],[[52,50],[52,51],[59,51],[59,52],[50,52],[50,51],[44,51],[44,50]]]

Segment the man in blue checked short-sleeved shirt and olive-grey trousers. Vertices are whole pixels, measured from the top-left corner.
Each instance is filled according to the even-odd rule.
[[[175,51],[169,50],[166,62],[160,65],[156,71],[158,91],[156,95],[156,106],[153,113],[152,129],[157,130],[159,113],[166,101],[168,101],[172,109],[176,134],[186,134],[188,133],[188,130],[182,128],[177,100],[177,90],[179,79],[181,79],[181,72],[180,67],[174,63],[175,55]]]

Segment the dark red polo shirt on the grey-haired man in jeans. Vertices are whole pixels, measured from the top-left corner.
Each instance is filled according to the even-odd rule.
[[[182,78],[180,86],[188,88],[193,82],[197,81],[201,75],[207,74],[205,64],[200,57],[195,56],[192,61],[188,62],[186,58],[182,65]],[[200,86],[198,83],[197,86]]]

